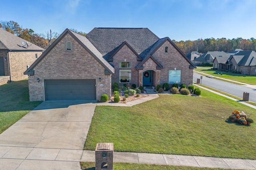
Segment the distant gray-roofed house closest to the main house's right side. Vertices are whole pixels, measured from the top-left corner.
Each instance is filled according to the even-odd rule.
[[[202,63],[213,63],[215,57],[226,57],[230,56],[229,54],[225,53],[224,51],[208,51],[200,57],[194,59],[195,65],[202,65]]]

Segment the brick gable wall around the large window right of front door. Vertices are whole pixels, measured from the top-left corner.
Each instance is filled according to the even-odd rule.
[[[165,53],[165,47],[168,47],[168,53]],[[181,83],[191,85],[193,83],[193,69],[189,69],[190,63],[166,41],[156,52],[152,55],[164,68],[160,71],[160,84],[168,83],[169,70],[181,70]],[[146,70],[144,70],[146,71]]]

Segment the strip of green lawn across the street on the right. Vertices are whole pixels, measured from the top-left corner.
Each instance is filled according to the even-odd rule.
[[[236,73],[231,73],[231,72],[225,72],[225,71],[220,71],[220,70],[212,70],[208,68],[204,69],[194,69],[195,71],[200,71],[206,74],[214,75],[216,77],[222,77],[225,79],[230,79],[234,81],[238,81],[241,83],[246,83],[250,85],[256,85],[256,76],[254,75],[244,75],[244,74],[236,74]],[[219,73],[219,75],[218,75]],[[220,75],[222,73],[222,75]]]

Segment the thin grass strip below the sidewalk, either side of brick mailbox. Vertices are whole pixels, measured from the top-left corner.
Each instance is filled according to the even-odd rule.
[[[95,162],[80,162],[82,170],[95,170]],[[113,163],[114,170],[221,170],[221,168],[197,168],[156,164]]]

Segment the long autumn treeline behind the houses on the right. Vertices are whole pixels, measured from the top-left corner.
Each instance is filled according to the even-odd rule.
[[[206,38],[204,40],[198,39],[195,41],[180,41],[172,40],[185,54],[192,51],[205,53],[207,51],[225,51],[229,52],[233,49],[240,48],[242,50],[256,50],[256,40],[250,38],[248,40],[242,38],[233,38],[232,40],[226,38]]]

